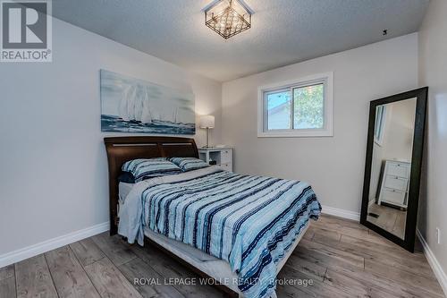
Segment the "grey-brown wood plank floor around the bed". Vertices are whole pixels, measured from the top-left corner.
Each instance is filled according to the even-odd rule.
[[[98,234],[0,268],[0,297],[225,297],[211,285],[134,285],[134,278],[197,277],[154,247]],[[279,280],[278,297],[444,297],[419,250],[414,254],[358,223],[312,222]]]

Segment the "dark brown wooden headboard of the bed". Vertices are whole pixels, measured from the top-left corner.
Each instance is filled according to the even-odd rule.
[[[118,177],[122,165],[136,158],[198,158],[194,139],[173,137],[105,138],[109,165],[110,234],[118,230]]]

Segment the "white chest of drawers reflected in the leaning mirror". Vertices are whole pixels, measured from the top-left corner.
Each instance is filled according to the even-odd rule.
[[[408,207],[410,171],[411,164],[408,162],[385,160],[379,205],[387,203],[402,209]]]

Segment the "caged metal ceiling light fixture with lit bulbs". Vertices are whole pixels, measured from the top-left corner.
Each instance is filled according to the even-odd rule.
[[[225,39],[251,28],[253,11],[242,0],[216,0],[204,11],[205,25]]]

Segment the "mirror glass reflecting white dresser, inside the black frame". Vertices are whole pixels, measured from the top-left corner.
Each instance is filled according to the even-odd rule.
[[[375,108],[367,221],[405,238],[417,98]]]

